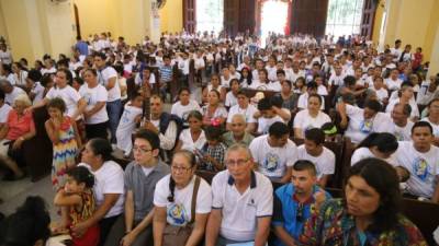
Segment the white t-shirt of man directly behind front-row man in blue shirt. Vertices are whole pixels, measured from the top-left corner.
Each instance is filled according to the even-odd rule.
[[[331,175],[336,168],[336,155],[326,147],[323,147],[323,152],[318,156],[313,156],[306,152],[305,144],[297,147],[297,160],[308,160],[314,163],[317,171],[317,178],[323,175]]]

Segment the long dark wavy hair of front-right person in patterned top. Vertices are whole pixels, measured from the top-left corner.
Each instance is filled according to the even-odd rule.
[[[364,179],[380,195],[380,207],[373,212],[373,222],[368,230],[383,232],[395,229],[402,199],[395,168],[379,159],[363,159],[350,167],[345,184],[352,176]]]

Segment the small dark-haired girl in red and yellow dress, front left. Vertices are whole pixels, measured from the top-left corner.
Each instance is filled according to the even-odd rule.
[[[55,195],[54,204],[60,207],[66,214],[56,230],[66,230],[88,220],[95,209],[93,196],[94,176],[85,166],[76,166],[67,172],[67,183]],[[99,225],[89,227],[82,236],[71,235],[75,246],[97,246],[99,243]]]

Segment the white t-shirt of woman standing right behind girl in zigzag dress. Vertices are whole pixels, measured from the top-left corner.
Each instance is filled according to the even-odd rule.
[[[47,92],[46,94],[47,99],[53,99],[55,97],[64,99],[64,103],[66,103],[66,108],[67,108],[66,115],[71,117],[75,114],[76,109],[78,108],[78,101],[81,98],[81,95],[70,85],[66,85],[63,89],[52,87]]]

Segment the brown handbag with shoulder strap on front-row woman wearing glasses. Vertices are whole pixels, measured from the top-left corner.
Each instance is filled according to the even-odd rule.
[[[195,220],[196,195],[200,187],[200,177],[195,177],[191,201],[191,221],[184,226],[166,224],[164,230],[162,246],[184,246],[192,233]]]

